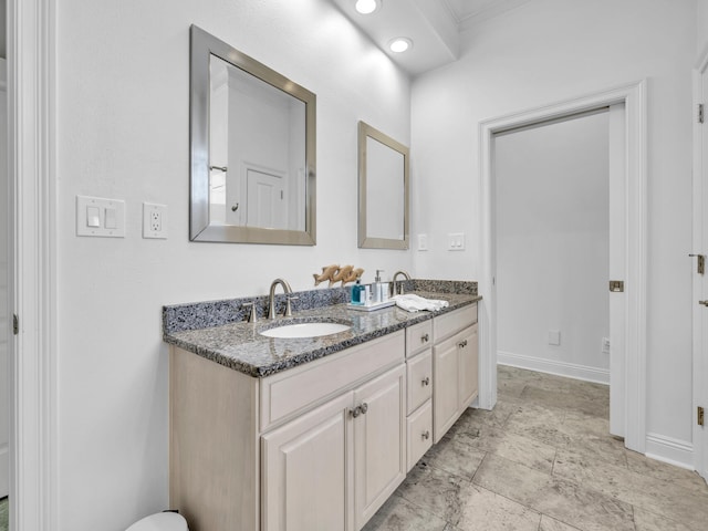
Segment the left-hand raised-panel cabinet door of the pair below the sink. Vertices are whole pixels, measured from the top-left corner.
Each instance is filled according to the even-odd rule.
[[[352,393],[261,437],[264,531],[350,531]]]

